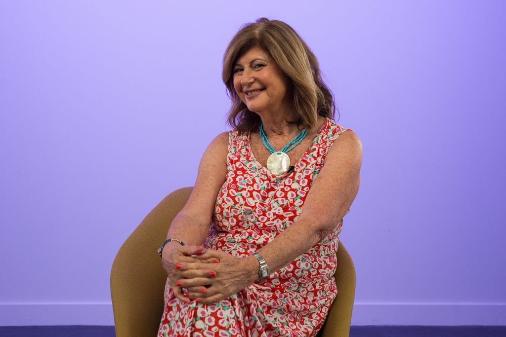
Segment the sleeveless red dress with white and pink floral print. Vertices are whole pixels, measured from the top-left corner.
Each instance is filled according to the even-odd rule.
[[[297,221],[330,146],[346,130],[351,129],[327,119],[294,170],[282,176],[255,159],[249,133],[230,131],[227,178],[204,247],[247,257]],[[337,294],[333,274],[342,225],[343,220],[321,243],[264,283],[251,284],[216,304],[181,302],[167,280],[158,337],[315,336]]]

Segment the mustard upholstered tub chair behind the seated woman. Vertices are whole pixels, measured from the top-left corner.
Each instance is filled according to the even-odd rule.
[[[175,190],[141,222],[119,249],[111,269],[111,297],[117,337],[156,336],[163,312],[167,274],[156,250],[183,208],[192,187]],[[355,267],[339,243],[335,279],[338,296],[319,336],[349,336],[355,299]]]

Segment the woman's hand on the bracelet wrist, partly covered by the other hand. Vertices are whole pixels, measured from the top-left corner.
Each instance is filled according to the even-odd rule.
[[[179,281],[184,278],[182,276],[181,264],[185,262],[200,262],[200,263],[215,263],[218,261],[216,258],[210,258],[206,260],[198,259],[198,255],[204,252],[202,246],[180,246],[178,243],[174,245],[166,245],[162,251],[162,264],[163,269],[167,272],[169,285],[171,286],[174,295],[181,301],[190,303],[188,294],[183,292],[182,287],[178,284]],[[199,273],[208,274],[212,269],[199,270]]]

